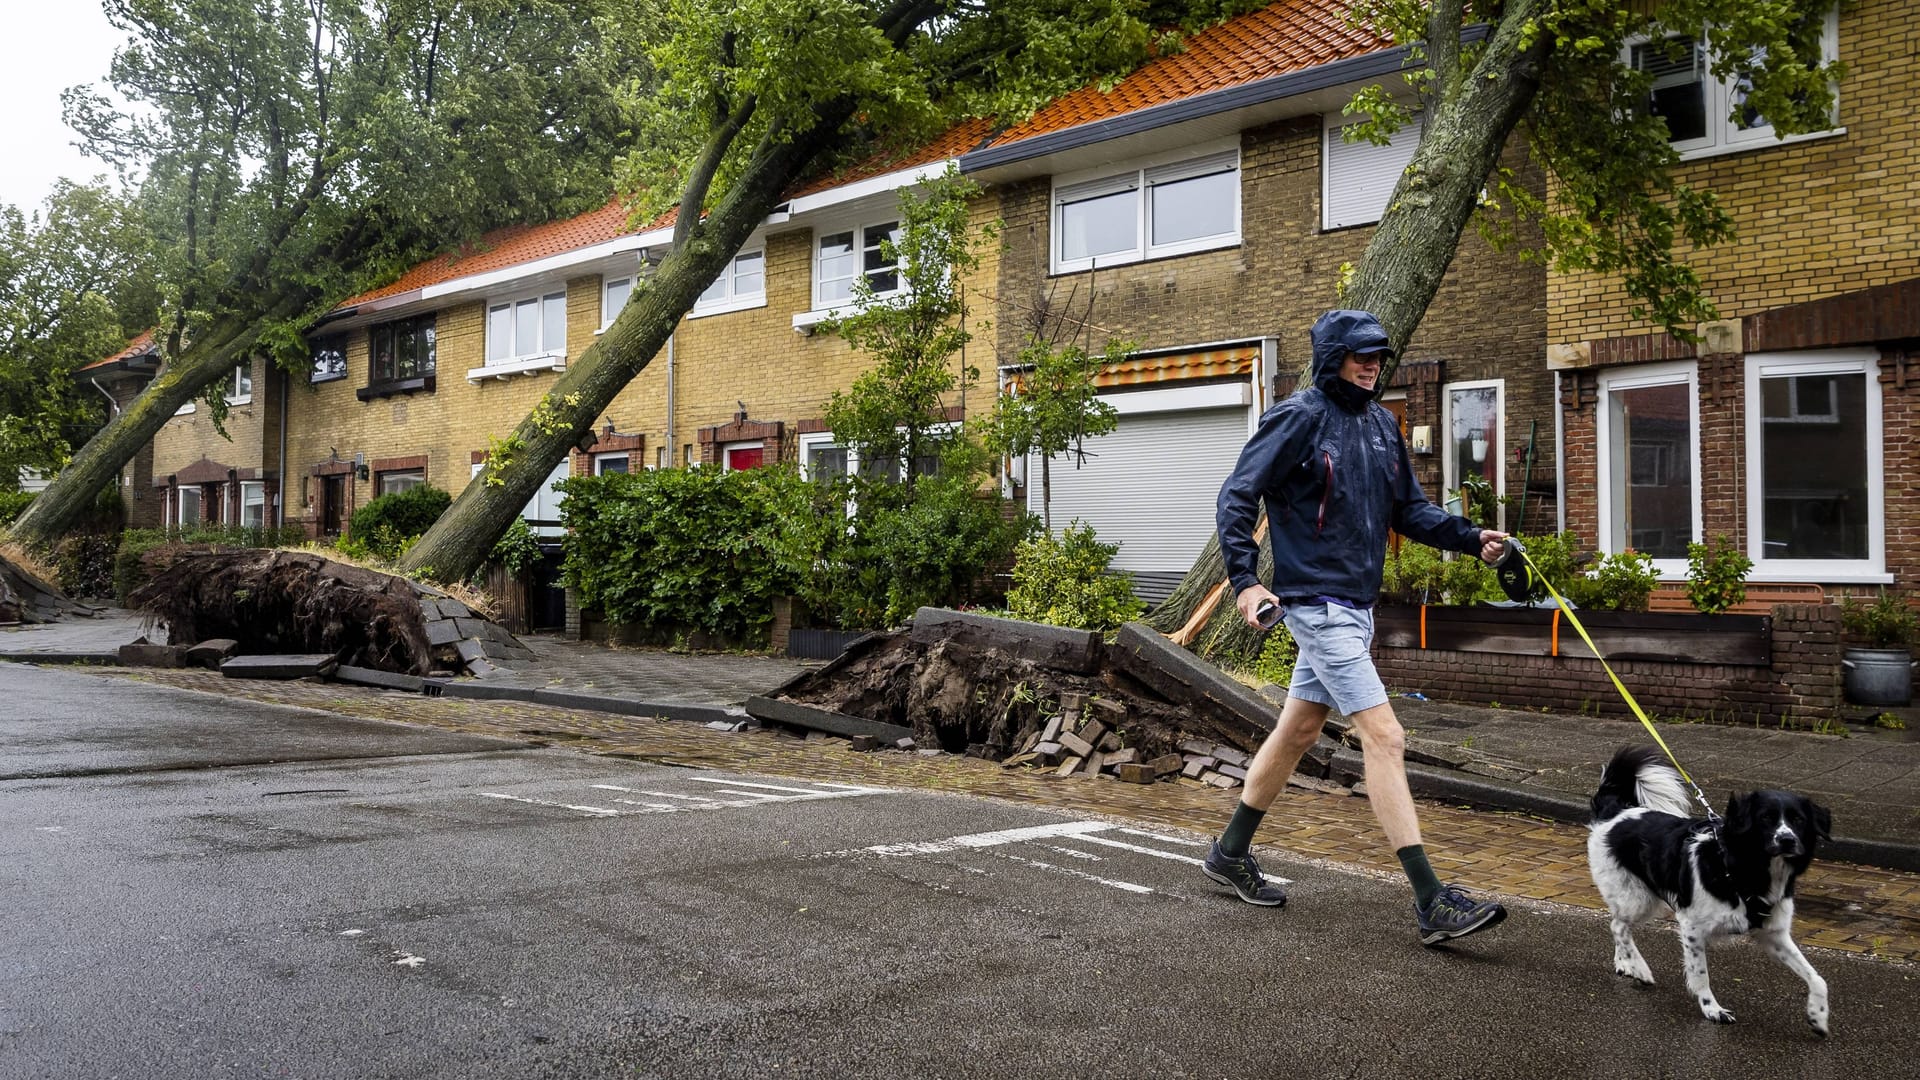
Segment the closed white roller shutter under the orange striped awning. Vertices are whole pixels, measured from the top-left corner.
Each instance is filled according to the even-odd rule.
[[[1246,446],[1246,407],[1123,413],[1114,434],[1087,442],[1087,463],[1056,457],[1054,532],[1075,517],[1114,569],[1185,573],[1213,536],[1213,502]],[[1041,461],[1027,461],[1027,509],[1041,513]]]

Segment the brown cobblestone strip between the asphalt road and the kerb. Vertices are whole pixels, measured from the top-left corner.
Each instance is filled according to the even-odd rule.
[[[1217,832],[1235,805],[1233,792],[1190,780],[1135,786],[1106,776],[1054,778],[956,755],[852,753],[843,740],[801,740],[770,730],[720,732],[680,721],[520,701],[422,698],[313,680],[234,682],[207,671],[109,667],[75,671],[204,690],[225,698],[522,738],[666,765],[985,796],[1198,834]],[[1601,907],[1588,878],[1584,828],[1438,803],[1423,805],[1421,819],[1442,878],[1511,897],[1580,909]],[[1365,799],[1348,796],[1288,790],[1261,826],[1261,847],[1281,857],[1325,859],[1398,876],[1398,863],[1386,851]],[[1891,961],[1920,961],[1920,874],[1816,863],[1801,878],[1797,899],[1795,930],[1803,944]],[[1603,942],[1596,947],[1603,947]]]

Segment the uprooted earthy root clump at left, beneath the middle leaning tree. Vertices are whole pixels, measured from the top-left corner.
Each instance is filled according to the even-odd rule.
[[[340,663],[426,675],[430,646],[407,578],[307,552],[156,550],[131,601],[173,644],[234,638],[248,653],[330,653]]]

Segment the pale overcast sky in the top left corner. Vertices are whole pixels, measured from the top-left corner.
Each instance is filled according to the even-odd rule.
[[[104,79],[119,42],[98,0],[0,0],[0,202],[31,213],[58,177],[113,173],[73,146],[60,92]]]

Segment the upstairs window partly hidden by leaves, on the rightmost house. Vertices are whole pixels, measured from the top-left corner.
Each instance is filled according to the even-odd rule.
[[[1820,61],[1837,56],[1839,12],[1830,10],[1820,25]],[[1668,35],[1661,40],[1638,40],[1626,46],[1626,63],[1653,81],[1647,92],[1647,111],[1667,125],[1667,138],[1688,158],[1724,154],[1753,144],[1814,138],[1807,133],[1778,138],[1774,125],[1747,106],[1753,85],[1743,79],[1718,79],[1707,40],[1695,35]]]

